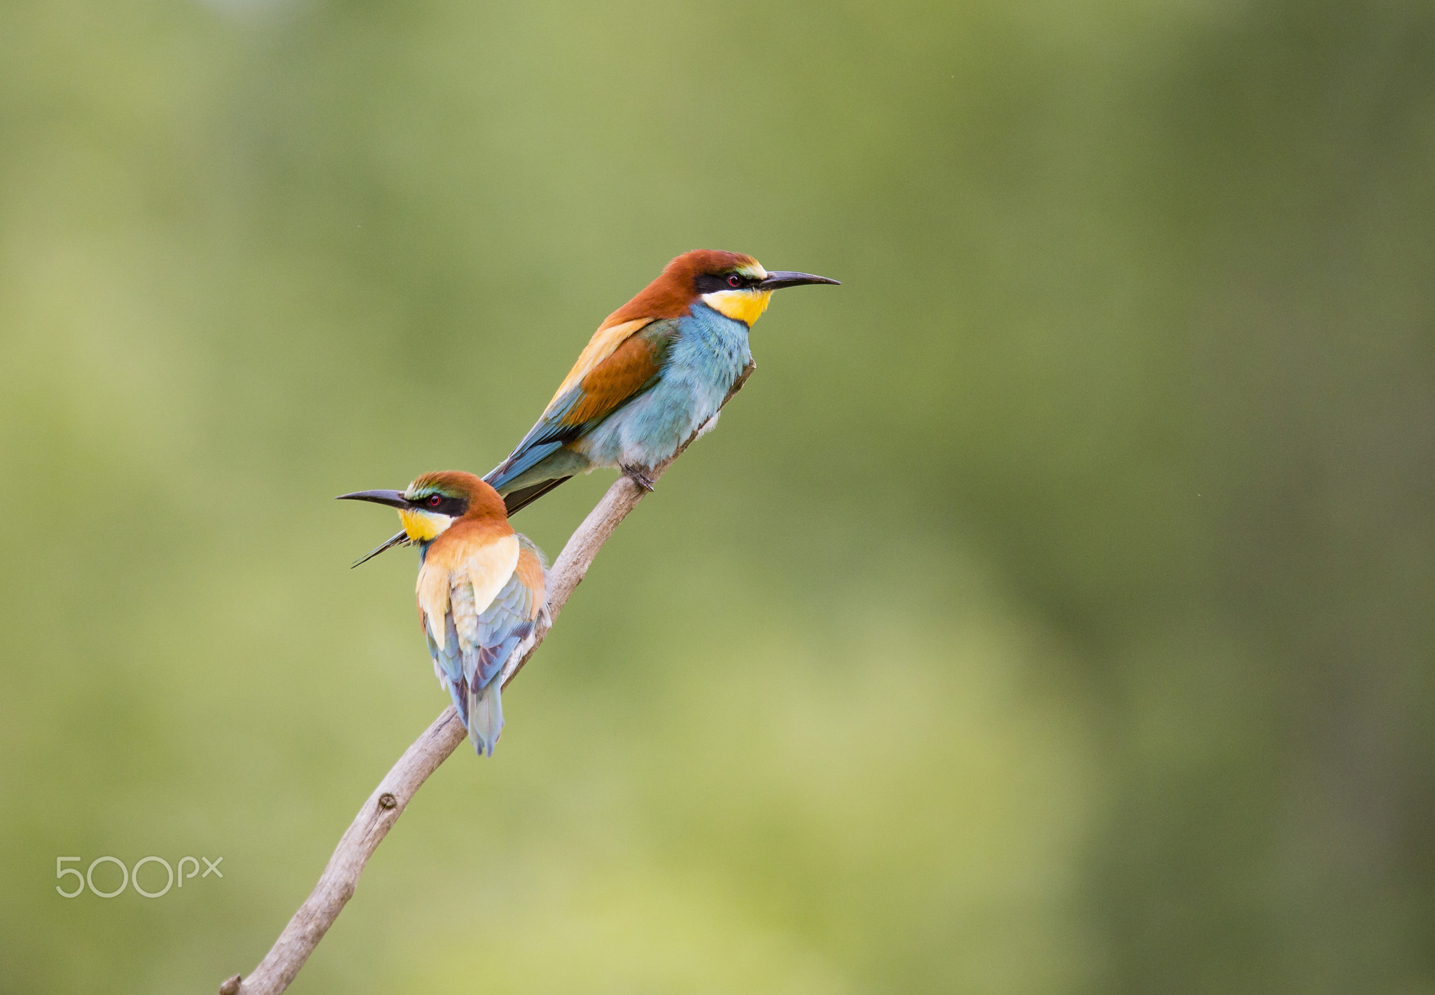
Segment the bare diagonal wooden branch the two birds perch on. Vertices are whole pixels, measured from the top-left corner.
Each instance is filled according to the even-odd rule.
[[[743,368],[738,383],[723,399],[723,404],[742,390],[755,368],[753,363]],[[699,434],[702,430],[695,432],[662,466],[651,467],[650,479],[656,483]],[[538,647],[548,637],[558,612],[568,604],[568,598],[583,582],[588,566],[593,565],[594,556],[603,549],[603,543],[646,495],[647,490],[634,483],[631,477],[620,476],[597,506],[588,512],[588,516],[583,519],[583,523],[568,536],[563,552],[558,553],[552,569],[548,571],[548,625],[540,628],[532,648],[504,681],[504,687],[508,687],[524,665],[532,660]],[[248,976],[234,975],[220,985],[220,995],[278,995],[288,988],[300,968],[309,961],[309,955],[319,946],[319,941],[324,938],[329,928],[334,925],[334,919],[343,912],[344,905],[353,898],[364,865],[369,863],[369,857],[373,856],[375,849],[389,834],[389,830],[393,829],[393,823],[403,814],[413,793],[439,768],[439,764],[449,758],[449,754],[464,743],[465,737],[464,723],[459,721],[453,705],[449,705],[433,720],[432,725],[423,730],[413,746],[403,751],[399,763],[389,770],[379,781],[379,787],[359,809],[359,814],[340,837],[334,854],[329,857],[329,865],[319,876],[314,890],[298,906],[298,912],[284,926],[284,932],[274,941],[270,952]]]

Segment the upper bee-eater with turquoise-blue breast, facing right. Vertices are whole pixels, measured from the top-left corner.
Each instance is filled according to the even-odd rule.
[[[649,472],[710,427],[752,361],[748,330],[772,291],[837,282],[768,272],[740,252],[679,255],[598,325],[538,424],[484,480],[509,515],[598,466],[616,466],[651,490]]]

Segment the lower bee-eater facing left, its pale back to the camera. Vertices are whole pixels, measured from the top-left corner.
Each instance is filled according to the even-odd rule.
[[[492,756],[504,728],[499,691],[547,621],[542,552],[514,532],[504,499],[472,473],[425,473],[405,490],[359,490],[339,500],[399,509],[403,532],[359,563],[390,546],[419,546],[419,616],[433,672],[478,756]]]

